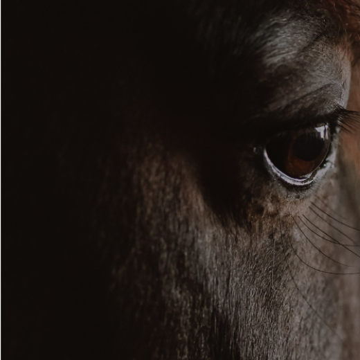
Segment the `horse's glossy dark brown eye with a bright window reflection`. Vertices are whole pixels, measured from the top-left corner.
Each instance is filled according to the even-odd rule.
[[[292,179],[309,179],[325,160],[331,143],[329,125],[276,136],[266,146],[272,165]]]

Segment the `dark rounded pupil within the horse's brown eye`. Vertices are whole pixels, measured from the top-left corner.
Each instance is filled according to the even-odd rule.
[[[298,136],[293,144],[294,154],[303,161],[313,161],[320,154],[325,141],[318,132],[311,132]]]

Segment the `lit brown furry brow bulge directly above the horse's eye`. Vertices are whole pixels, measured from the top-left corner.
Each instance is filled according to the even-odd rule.
[[[285,106],[318,89],[323,89],[318,94],[324,96],[325,102],[346,105],[350,56],[347,44],[334,37],[330,24],[321,24],[321,19],[282,15],[262,24],[259,35],[264,46],[259,73],[260,81],[273,83],[271,107]]]

